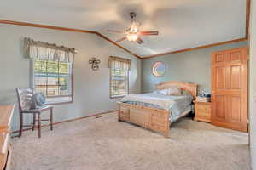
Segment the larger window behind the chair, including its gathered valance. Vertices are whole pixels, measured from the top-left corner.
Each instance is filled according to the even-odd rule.
[[[32,88],[46,96],[48,104],[73,101],[75,48],[24,38],[25,58],[32,61]]]

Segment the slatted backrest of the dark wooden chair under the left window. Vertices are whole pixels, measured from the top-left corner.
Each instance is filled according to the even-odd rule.
[[[16,88],[20,111],[30,110],[32,104],[32,88]]]

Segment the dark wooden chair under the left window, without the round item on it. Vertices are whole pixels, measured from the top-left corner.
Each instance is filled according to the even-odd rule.
[[[20,133],[21,137],[23,127],[32,127],[32,131],[36,126],[36,121],[38,121],[38,138],[41,138],[41,121],[50,121],[50,130],[53,130],[53,106],[47,105],[40,109],[31,110],[31,101],[33,90],[31,88],[16,88],[16,93],[18,97],[19,110],[20,110]],[[41,119],[41,113],[43,111],[50,111],[50,119]],[[23,125],[23,114],[32,114],[33,122],[32,125]],[[38,120],[36,119],[38,116]]]

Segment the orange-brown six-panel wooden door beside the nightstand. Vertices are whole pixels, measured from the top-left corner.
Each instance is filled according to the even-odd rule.
[[[247,51],[235,48],[212,54],[212,124],[248,131]]]

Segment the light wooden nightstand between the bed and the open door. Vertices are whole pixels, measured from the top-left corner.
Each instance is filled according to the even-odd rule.
[[[194,101],[195,103],[195,121],[201,122],[211,122],[211,102],[199,102]]]

